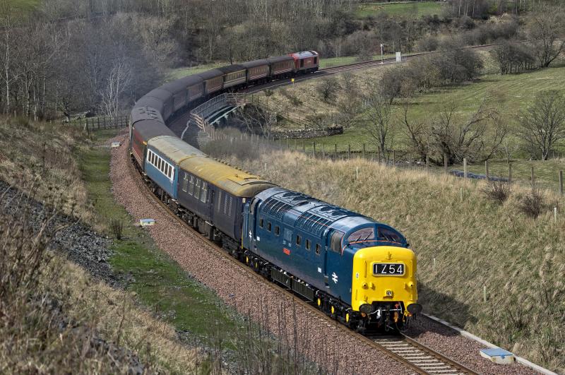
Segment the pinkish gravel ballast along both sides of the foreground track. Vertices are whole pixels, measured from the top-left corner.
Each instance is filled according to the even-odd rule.
[[[247,270],[234,266],[217,254],[212,246],[175,220],[143,191],[137,174],[131,173],[125,134],[114,140],[119,148],[112,149],[110,178],[116,201],[131,213],[134,220],[155,219],[146,227],[155,243],[167,252],[187,272],[211,287],[227,304],[240,313],[268,326],[280,340],[293,343],[317,363],[335,373],[347,374],[410,374],[402,364],[384,356],[379,350],[360,343],[343,333],[302,305],[292,302],[285,292],[275,290],[268,282],[256,280]],[[453,357],[482,374],[531,374],[522,366],[499,367],[478,355],[477,343],[453,335],[449,328],[427,326],[420,321],[412,328],[412,336],[435,350]],[[448,331],[446,331],[448,330]]]

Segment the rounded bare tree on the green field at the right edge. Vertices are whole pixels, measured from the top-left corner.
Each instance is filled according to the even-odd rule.
[[[522,113],[518,134],[542,160],[547,160],[554,145],[565,139],[564,95],[555,90],[537,95],[533,105]]]

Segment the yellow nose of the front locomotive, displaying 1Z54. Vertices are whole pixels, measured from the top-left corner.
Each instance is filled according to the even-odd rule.
[[[359,249],[353,257],[351,306],[370,314],[379,302],[400,302],[404,314],[417,302],[416,256],[410,249],[373,246]]]

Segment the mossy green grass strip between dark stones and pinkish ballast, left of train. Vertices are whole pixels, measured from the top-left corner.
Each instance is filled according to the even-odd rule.
[[[107,146],[109,136],[97,134],[97,142]],[[126,147],[123,145],[122,147]],[[114,202],[109,180],[110,151],[107,147],[86,148],[81,152],[81,170],[98,220],[124,224],[123,239],[114,240],[112,267],[128,282],[128,290],[138,294],[141,302],[181,331],[190,331],[203,340],[216,334],[217,326],[227,337],[234,335],[236,325],[223,302],[206,287],[199,285],[179,265],[156,248],[150,236],[136,225],[123,206]],[[209,342],[207,344],[210,344]]]

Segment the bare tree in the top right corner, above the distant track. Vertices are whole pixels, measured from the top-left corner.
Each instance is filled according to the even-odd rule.
[[[565,49],[565,11],[563,5],[541,6],[530,21],[530,39],[534,40],[534,53],[538,64],[549,66]]]

